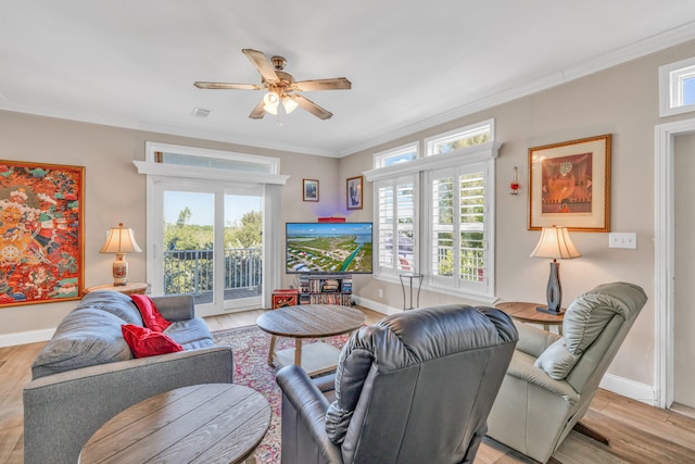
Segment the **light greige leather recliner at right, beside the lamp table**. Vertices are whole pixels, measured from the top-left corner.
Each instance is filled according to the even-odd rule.
[[[488,418],[488,436],[545,463],[578,424],[647,301],[642,288],[601,285],[567,309],[563,335],[517,324],[519,342]]]

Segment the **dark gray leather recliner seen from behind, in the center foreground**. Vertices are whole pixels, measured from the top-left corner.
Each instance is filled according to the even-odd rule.
[[[517,337],[495,309],[426,308],[353,334],[334,381],[283,367],[282,463],[472,463]]]

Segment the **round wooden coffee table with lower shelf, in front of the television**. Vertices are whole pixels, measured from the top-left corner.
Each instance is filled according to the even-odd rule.
[[[271,335],[268,364],[274,359],[280,365],[296,364],[308,375],[332,371],[338,365],[340,350],[316,342],[302,347],[304,338],[325,338],[353,331],[365,323],[362,311],[333,304],[300,304],[268,311],[258,316],[256,324]],[[294,349],[275,350],[276,337],[294,339]]]

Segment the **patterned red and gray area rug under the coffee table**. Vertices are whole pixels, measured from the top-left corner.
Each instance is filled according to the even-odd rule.
[[[342,348],[350,335],[324,339],[336,348]],[[270,403],[273,418],[270,428],[258,446],[255,457],[258,464],[277,464],[280,462],[280,421],[282,393],[275,381],[277,367],[268,365],[268,347],[270,335],[257,326],[239,327],[213,333],[216,346],[229,346],[235,356],[235,384],[243,385],[261,392]],[[311,343],[312,339],[304,340]],[[277,349],[293,348],[294,340],[278,337]]]

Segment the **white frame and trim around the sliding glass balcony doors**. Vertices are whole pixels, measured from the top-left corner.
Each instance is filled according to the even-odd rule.
[[[266,164],[269,172],[248,172],[233,170],[219,170],[204,166],[187,166],[179,164],[165,164],[155,162],[156,152],[174,152],[180,154],[242,159],[245,162]],[[146,142],[146,161],[132,162],[139,174],[147,175],[147,276],[149,281],[155,279],[155,261],[162,259],[162,250],[154,246],[162,237],[162,205],[159,199],[157,184],[161,183],[192,183],[207,181],[211,185],[235,187],[260,187],[263,189],[263,308],[270,308],[271,294],[275,288],[279,288],[281,280],[283,229],[280,227],[280,188],[287,183],[289,176],[278,174],[280,160],[268,156],[256,156],[245,153],[233,153],[219,150],[208,150],[195,147],[175,146],[159,142]],[[224,223],[224,211],[218,211],[220,217],[216,221]],[[153,289],[155,290],[155,289]],[[203,305],[204,306],[204,305]],[[201,308],[201,315],[207,316],[220,314],[225,311],[220,305],[205,309]]]

